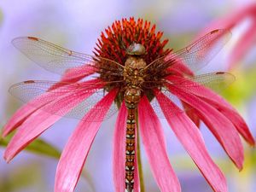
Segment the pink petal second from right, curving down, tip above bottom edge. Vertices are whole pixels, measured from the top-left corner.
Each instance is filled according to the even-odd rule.
[[[236,127],[230,120],[222,113],[219,113],[217,109],[212,108],[207,102],[204,102],[200,97],[172,84],[168,84],[167,87],[175,96],[197,110],[197,115],[204,121],[230,156],[230,159],[241,170],[243,164],[243,148]]]

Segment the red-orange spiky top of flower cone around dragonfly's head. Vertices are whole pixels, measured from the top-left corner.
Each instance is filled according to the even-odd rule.
[[[149,64],[160,56],[167,55],[171,49],[164,49],[168,40],[160,41],[163,32],[155,32],[155,25],[142,19],[122,19],[113,22],[112,26],[102,32],[98,38],[94,54],[125,65],[125,50],[132,44],[143,44],[146,49],[144,60]]]

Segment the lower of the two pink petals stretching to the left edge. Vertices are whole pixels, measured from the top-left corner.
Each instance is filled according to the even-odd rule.
[[[58,100],[45,105],[43,110],[39,109],[32,113],[29,118],[20,125],[20,129],[9,142],[4,153],[4,159],[8,162],[12,160],[20,150],[47,130],[50,125],[53,125],[57,120],[61,119],[60,115],[55,115],[54,113],[65,115],[79,104],[79,102],[82,102],[85,98],[93,94],[95,90],[84,92],[83,94],[79,94],[79,91],[80,90],[76,90],[77,97],[73,97],[75,92],[68,93],[67,95],[61,96]],[[46,111],[51,111],[52,113],[47,113]]]

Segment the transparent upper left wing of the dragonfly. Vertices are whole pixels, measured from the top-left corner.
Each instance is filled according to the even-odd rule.
[[[63,74],[67,69],[87,66],[95,68],[95,72],[107,69],[118,73],[123,68],[118,62],[65,49],[40,38],[15,38],[12,43],[29,59],[53,73]]]

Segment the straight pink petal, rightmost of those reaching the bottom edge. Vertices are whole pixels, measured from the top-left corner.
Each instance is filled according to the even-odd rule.
[[[201,132],[189,117],[164,94],[157,93],[155,96],[169,125],[172,127],[172,131],[188,151],[192,160],[195,161],[195,165],[206,177],[212,189],[216,192],[227,192],[225,177],[208,154]]]

